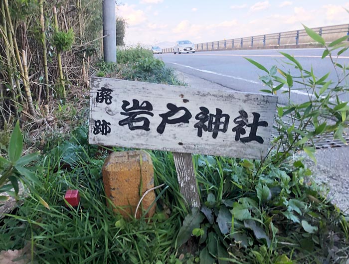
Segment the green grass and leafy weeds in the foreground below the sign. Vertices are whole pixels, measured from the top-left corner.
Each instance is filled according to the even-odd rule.
[[[107,152],[87,143],[86,125],[76,129],[68,141],[42,153],[36,162],[43,184],[37,191],[50,210],[34,197],[23,198],[22,206],[0,220],[0,250],[29,243],[33,260],[49,264],[189,264],[199,257],[205,263],[205,253],[213,260],[221,258],[220,263],[345,263],[341,261],[348,252],[348,218],[314,187],[303,184],[309,171],[293,161],[280,168],[269,163],[256,177],[259,161],[194,155],[201,202],[213,212],[213,222],[202,216],[202,235],[188,233],[188,243],[178,245],[178,231],[190,213],[179,192],[173,156],[150,153],[155,185],[165,183],[156,190],[156,214],[125,222],[112,205],[106,206],[101,167]],[[80,191],[78,208],[65,206],[68,188]],[[230,212],[225,223],[234,227],[227,234],[220,227],[224,210]],[[248,227],[246,220],[259,228]],[[179,261],[177,252],[190,254]]]

